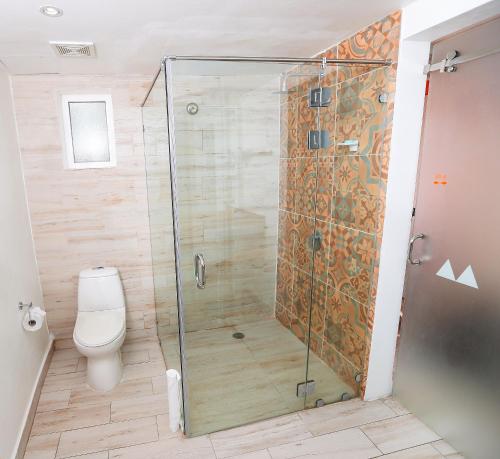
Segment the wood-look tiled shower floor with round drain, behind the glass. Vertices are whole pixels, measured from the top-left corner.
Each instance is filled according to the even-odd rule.
[[[233,333],[242,332],[238,340]],[[176,343],[168,341],[167,364],[176,367]],[[170,351],[169,351],[170,350]],[[277,320],[186,333],[191,432],[199,435],[304,408],[296,395],[306,379],[306,346]],[[308,379],[316,389],[307,400],[327,403],[354,395],[312,352]]]

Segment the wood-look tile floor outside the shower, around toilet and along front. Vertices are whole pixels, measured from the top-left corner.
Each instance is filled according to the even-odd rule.
[[[460,458],[395,400],[351,400],[183,438],[168,429],[156,340],[123,346],[124,377],[108,393],[85,384],[85,359],[54,352],[25,459]]]

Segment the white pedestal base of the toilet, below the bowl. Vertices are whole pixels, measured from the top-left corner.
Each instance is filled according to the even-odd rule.
[[[122,379],[120,350],[102,357],[87,357],[87,383],[92,389],[108,391]]]

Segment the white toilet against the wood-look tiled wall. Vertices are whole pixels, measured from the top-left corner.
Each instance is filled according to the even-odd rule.
[[[81,271],[73,341],[87,357],[87,382],[96,390],[108,391],[120,382],[125,326],[125,297],[118,270]]]

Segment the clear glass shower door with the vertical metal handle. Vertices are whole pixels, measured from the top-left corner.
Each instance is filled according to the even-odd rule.
[[[295,267],[287,259],[293,249],[279,237],[278,226],[283,229],[287,214],[290,221],[296,218],[295,207],[281,209],[280,188],[294,206],[297,155],[307,156],[308,131],[317,129],[318,121],[315,111],[298,119],[297,101],[284,77],[291,71],[274,63],[167,64],[189,435],[304,406],[297,384],[306,377],[309,299],[304,282],[311,272],[309,278],[302,276],[300,269],[310,266]],[[306,95],[309,86],[317,86],[319,68],[304,66],[301,72],[307,72],[300,88]],[[280,132],[280,116],[290,118],[290,132]],[[286,151],[280,138],[290,139]],[[309,159],[314,163],[314,157]],[[304,176],[301,186],[314,199],[314,180]],[[304,199],[301,205],[310,203]],[[295,238],[292,230],[283,238]],[[284,257],[278,262],[277,253]],[[294,276],[304,285],[296,301]],[[285,304],[275,304],[277,298]],[[292,314],[299,303],[305,313],[300,320]]]

